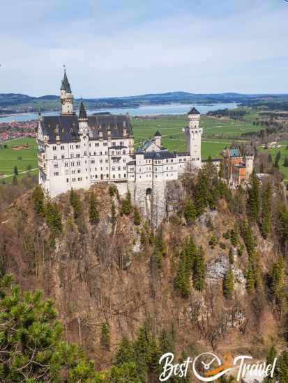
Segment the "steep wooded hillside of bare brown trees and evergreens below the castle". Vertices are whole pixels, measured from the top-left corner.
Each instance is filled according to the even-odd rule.
[[[208,161],[174,182],[158,230],[113,186],[50,201],[32,178],[1,185],[1,382],[158,382],[165,352],[209,350],[277,353],[287,382],[288,206],[272,170],[229,190]]]

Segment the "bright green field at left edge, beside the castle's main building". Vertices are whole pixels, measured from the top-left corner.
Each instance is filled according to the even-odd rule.
[[[11,146],[17,145],[29,145],[28,149],[22,150],[13,150]],[[3,148],[4,145],[7,145],[7,148]],[[25,173],[28,166],[31,166],[32,169],[38,167],[37,161],[37,144],[35,139],[24,138],[24,139],[15,139],[10,141],[5,141],[1,143],[2,149],[0,149],[0,174],[9,175],[9,177],[4,178],[6,182],[9,182],[13,177],[14,166],[17,166],[18,172],[20,173],[18,177],[22,177]],[[33,171],[34,173],[36,171]]]

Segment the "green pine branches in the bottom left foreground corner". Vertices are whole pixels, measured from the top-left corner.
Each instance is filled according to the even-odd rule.
[[[56,316],[42,291],[22,293],[12,276],[0,279],[1,382],[95,382],[93,362],[62,340]]]

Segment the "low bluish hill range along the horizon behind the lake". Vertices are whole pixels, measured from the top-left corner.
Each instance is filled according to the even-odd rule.
[[[84,99],[87,109],[105,107],[139,107],[170,103],[212,104],[217,102],[237,102],[243,105],[262,105],[271,102],[283,104],[288,102],[288,94],[241,94],[241,93],[188,93],[167,92],[134,95],[126,97],[102,97]],[[75,100],[79,104],[79,99]],[[0,93],[0,109],[7,111],[32,111],[59,109],[59,95],[32,97],[20,93]],[[285,108],[286,109],[286,108]]]

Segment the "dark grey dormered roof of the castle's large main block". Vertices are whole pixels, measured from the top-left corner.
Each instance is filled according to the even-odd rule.
[[[56,135],[60,136],[60,141],[79,141],[79,123],[76,114],[60,116],[44,116],[41,120],[43,134],[48,136],[48,142],[56,142]],[[128,116],[89,116],[89,137],[90,139],[107,139],[109,137],[122,138],[123,129],[127,130],[128,135],[132,135],[132,125]]]

